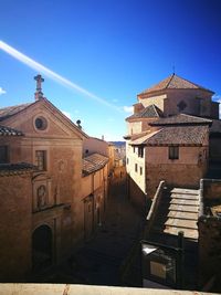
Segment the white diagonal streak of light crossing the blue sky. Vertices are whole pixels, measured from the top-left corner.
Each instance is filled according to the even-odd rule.
[[[3,41],[0,40],[0,49],[4,52],[7,52],[9,55],[13,56],[15,60],[22,62],[23,64],[28,65],[29,67],[43,73],[45,76],[52,78],[53,81],[69,87],[72,88],[90,98],[93,98],[94,101],[106,105],[108,107],[112,107],[115,110],[118,110],[122,113],[122,109],[119,107],[117,107],[116,105],[113,105],[110,103],[108,103],[107,101],[105,101],[104,98],[98,97],[97,95],[88,92],[87,89],[78,86],[77,84],[71,82],[70,80],[56,74],[55,72],[53,72],[52,70],[48,69],[46,66],[42,65],[39,62],[35,62],[34,60],[32,60],[31,57],[27,56],[25,54],[19,52],[18,50],[15,50],[14,48],[8,45],[7,43],[4,43]]]

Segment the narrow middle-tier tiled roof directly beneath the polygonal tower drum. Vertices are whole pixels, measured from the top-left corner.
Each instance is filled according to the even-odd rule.
[[[151,122],[150,126],[166,126],[166,125],[211,125],[211,119],[206,119],[201,117],[196,117],[186,114],[179,114],[167,118],[159,118],[155,122]]]

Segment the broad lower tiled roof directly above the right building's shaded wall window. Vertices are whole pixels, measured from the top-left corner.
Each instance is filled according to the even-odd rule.
[[[143,144],[147,146],[200,146],[207,133],[207,126],[166,127],[146,139]]]

